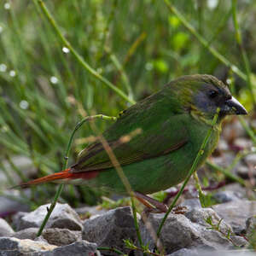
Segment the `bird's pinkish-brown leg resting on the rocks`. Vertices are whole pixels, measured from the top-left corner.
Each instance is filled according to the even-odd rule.
[[[134,192],[134,194],[138,201],[142,202],[144,206],[148,207],[148,212],[155,212],[154,210],[157,210],[157,213],[167,212],[168,207],[164,203],[154,200],[148,195],[143,195],[140,192]],[[154,206],[156,209],[152,206]]]

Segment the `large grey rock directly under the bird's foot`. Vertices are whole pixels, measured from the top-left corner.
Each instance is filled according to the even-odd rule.
[[[148,244],[150,249],[154,249],[155,243],[152,237],[154,237],[163,217],[164,214],[150,214],[148,222],[145,225],[140,224],[143,243]],[[216,212],[210,208],[193,209],[186,212],[185,215],[171,213],[160,233],[160,241],[162,246],[165,247],[166,253],[173,253],[184,247],[197,247],[206,250],[233,247],[232,243],[223,234],[217,230],[209,229],[211,226],[206,222],[209,217],[212,218],[212,224],[220,222]],[[230,226],[221,221],[219,230],[228,234]]]

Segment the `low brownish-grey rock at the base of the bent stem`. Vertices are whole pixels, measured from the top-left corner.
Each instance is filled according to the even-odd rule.
[[[56,246],[63,246],[71,244],[75,241],[82,240],[81,231],[67,230],[67,229],[46,229],[41,236],[37,236],[38,228],[28,228],[16,232],[13,237],[19,239],[31,239],[37,241],[46,241],[49,244]]]

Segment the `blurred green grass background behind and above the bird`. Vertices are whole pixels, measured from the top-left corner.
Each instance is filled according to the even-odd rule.
[[[248,90],[246,80],[249,76],[255,90],[255,1],[238,1],[235,14],[241,26],[242,49],[249,56],[247,79],[232,73],[207,49],[214,47],[246,73],[237,44],[232,1],[170,1],[207,41],[207,48],[165,1],[44,3],[73,49],[131,100],[138,101],[179,76],[209,73],[224,81],[235,80],[233,89],[238,99],[247,109],[253,109],[252,88]],[[84,113],[117,116],[131,105],[82,67],[50,26],[37,0],[0,3],[0,94],[0,169],[8,180],[0,189],[2,195],[6,187],[19,181],[15,175],[26,180],[60,171],[68,139]],[[96,120],[100,131],[109,124]],[[93,136],[90,125],[79,130],[69,164]],[[19,160],[14,161],[15,156],[31,160],[28,168],[33,172],[28,173],[32,174],[26,175],[27,170],[22,169]],[[54,191],[54,185],[34,188],[27,202],[32,207],[40,205],[49,201]],[[61,200],[73,206],[81,201],[94,204],[100,193],[69,186],[65,192]]]

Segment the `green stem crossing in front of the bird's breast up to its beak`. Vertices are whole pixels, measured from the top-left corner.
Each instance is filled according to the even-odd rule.
[[[180,195],[182,195],[183,193],[183,190],[185,189],[187,183],[189,182],[189,178],[191,177],[191,175],[195,172],[195,169],[199,163],[199,161],[201,160],[201,157],[202,155],[204,154],[204,150],[207,146],[207,143],[212,135],[212,130],[214,128],[214,125],[216,124],[217,122],[217,119],[218,119],[218,113],[219,113],[219,108],[217,108],[217,112],[215,113],[213,119],[212,119],[212,125],[211,127],[209,128],[209,130],[207,131],[207,136],[204,138],[204,141],[203,143],[201,143],[201,148],[199,149],[196,157],[195,157],[195,160],[193,162],[193,165],[191,166],[190,170],[189,170],[189,174],[188,176],[186,177],[186,179],[184,180],[183,182],[183,185],[181,187],[181,189],[178,191],[177,195],[175,196],[174,200],[172,201],[172,204],[171,206],[169,207],[168,211],[166,212],[164,218],[162,219],[161,223],[160,223],[160,226],[157,230],[157,236],[160,237],[160,232],[163,228],[163,225],[165,224],[166,222],[166,218],[168,217],[168,215],[170,214],[170,212],[172,211],[172,208],[175,206],[175,204],[177,203],[177,200],[178,198],[180,197]]]

